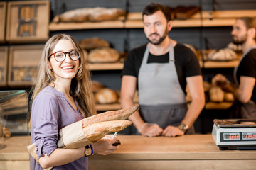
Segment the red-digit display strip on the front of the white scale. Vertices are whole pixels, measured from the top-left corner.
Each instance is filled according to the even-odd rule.
[[[256,132],[223,132],[220,133],[220,141],[256,141]]]

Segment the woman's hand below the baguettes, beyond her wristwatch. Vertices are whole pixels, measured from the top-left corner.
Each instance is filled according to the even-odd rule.
[[[93,152],[95,154],[107,155],[117,150],[119,146],[112,145],[115,142],[117,142],[117,137],[114,137],[114,139],[112,138],[113,138],[113,135],[106,135],[102,139],[97,140],[97,142],[93,142],[92,143]]]

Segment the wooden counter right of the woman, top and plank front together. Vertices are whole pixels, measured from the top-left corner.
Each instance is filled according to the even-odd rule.
[[[211,135],[142,137],[118,135],[122,145],[89,157],[89,169],[255,169],[256,151],[220,151]]]

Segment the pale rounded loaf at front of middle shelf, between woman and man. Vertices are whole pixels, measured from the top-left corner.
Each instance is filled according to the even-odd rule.
[[[87,61],[92,63],[117,62],[119,60],[119,52],[109,47],[97,48],[91,50]]]

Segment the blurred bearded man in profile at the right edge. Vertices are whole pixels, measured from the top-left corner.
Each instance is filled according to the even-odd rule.
[[[224,91],[230,91],[238,101],[239,118],[256,118],[256,18],[242,17],[235,21],[231,35],[233,43],[241,45],[242,57],[234,69],[235,84],[222,74],[213,78],[214,84],[221,84]]]

